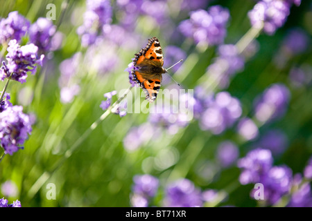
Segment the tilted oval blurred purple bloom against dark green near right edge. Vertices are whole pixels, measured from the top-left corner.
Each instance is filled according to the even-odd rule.
[[[284,115],[290,92],[283,84],[272,84],[254,101],[254,115],[260,122],[268,122]]]

